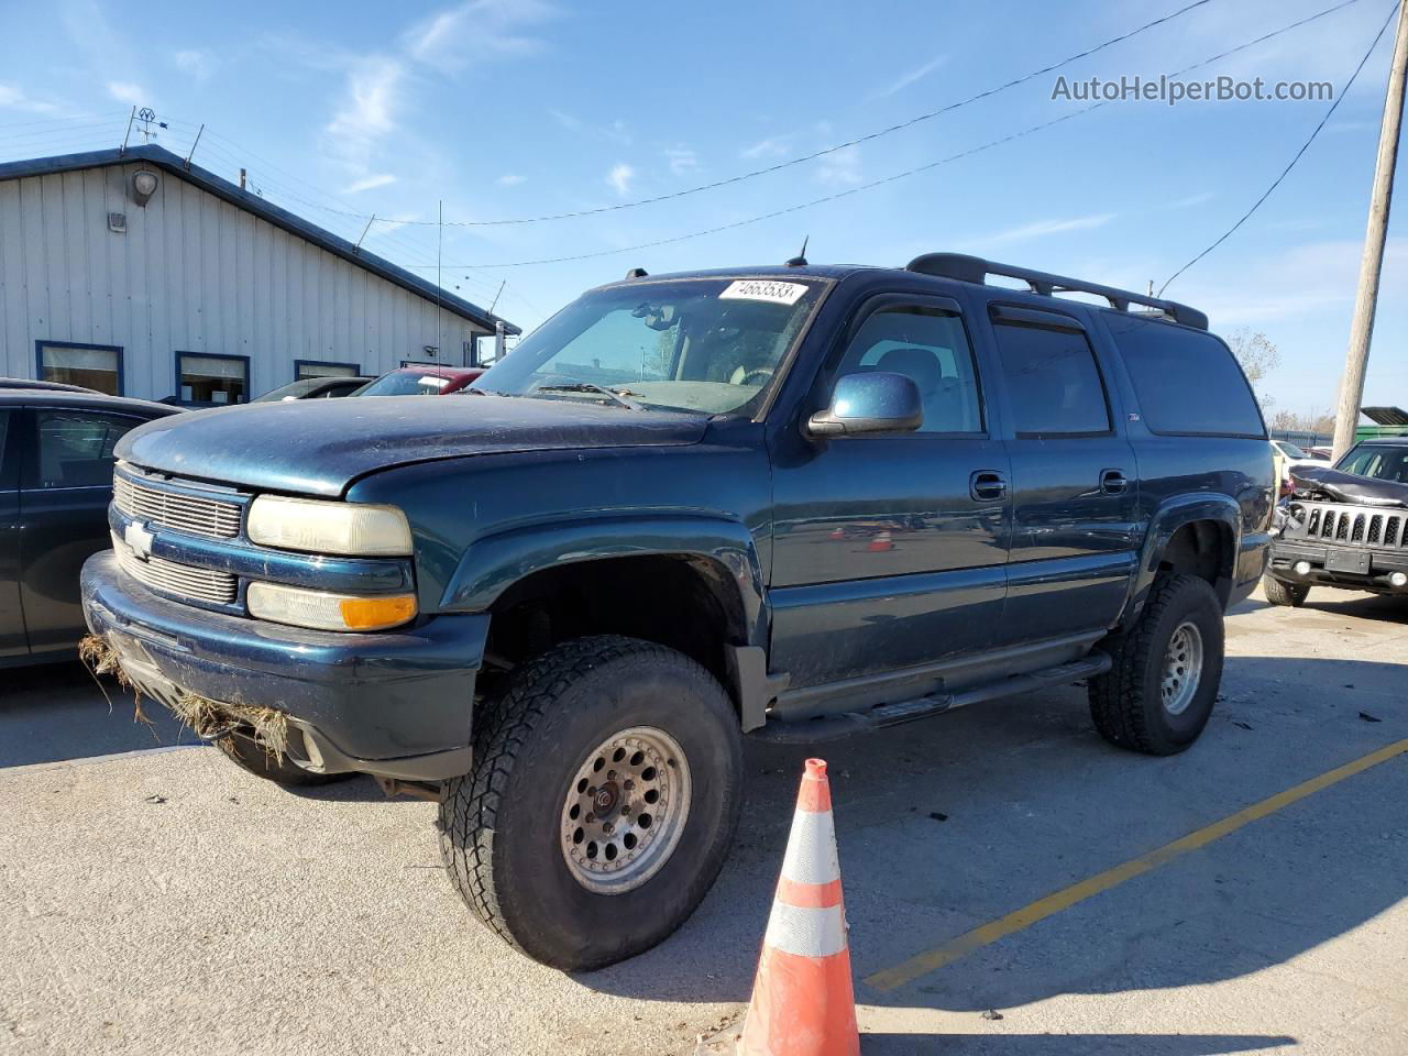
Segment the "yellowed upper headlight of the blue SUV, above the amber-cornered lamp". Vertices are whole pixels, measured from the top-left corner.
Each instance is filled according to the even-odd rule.
[[[394,505],[317,498],[259,496],[249,505],[249,538],[307,553],[384,558],[411,552],[411,527]]]

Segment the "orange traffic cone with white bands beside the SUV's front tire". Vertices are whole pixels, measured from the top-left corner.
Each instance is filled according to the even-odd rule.
[[[824,759],[797,794],[741,1056],[859,1056],[841,863]]]

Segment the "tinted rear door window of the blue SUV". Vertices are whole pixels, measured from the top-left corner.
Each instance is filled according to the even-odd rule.
[[[1110,432],[1105,386],[1083,332],[993,322],[1018,436]]]

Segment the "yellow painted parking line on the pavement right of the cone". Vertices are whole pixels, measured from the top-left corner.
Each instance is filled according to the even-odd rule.
[[[1215,821],[1197,832],[1190,832],[1181,839],[1164,843],[1162,848],[1150,850],[1148,855],[1140,855],[1139,857],[1131,859],[1124,865],[1107,869],[1104,873],[1097,873],[1095,876],[1074,883],[1070,887],[1056,891],[1055,894],[1049,894],[1045,898],[1038,898],[1031,905],[1024,905],[1021,910],[1010,912],[1005,917],[988,921],[970,932],[959,935],[956,939],[949,939],[942,946],[935,946],[924,953],[917,953],[894,967],[883,969],[874,974],[866,976],[863,981],[876,990],[895,990],[903,987],[905,983],[912,983],[921,976],[938,972],[945,964],[952,964],[959,957],[967,956],[976,949],[981,949],[983,946],[988,946],[998,939],[1004,939],[1008,935],[1031,928],[1038,921],[1045,921],[1048,917],[1052,917],[1062,910],[1069,910],[1077,903],[1093,898],[1101,891],[1118,887],[1125,880],[1132,880],[1136,876],[1142,876],[1143,873],[1157,869],[1159,866],[1167,865],[1176,857],[1187,855],[1190,850],[1197,850],[1215,839],[1221,839],[1231,832],[1236,832],[1243,825],[1250,825],[1253,821],[1276,814],[1276,811],[1290,807],[1293,803],[1300,803],[1322,788],[1339,784],[1346,777],[1353,777],[1356,773],[1363,773],[1371,766],[1378,766],[1378,763],[1404,753],[1408,753],[1408,741],[1398,741],[1387,748],[1380,748],[1377,752],[1370,752],[1352,763],[1345,763],[1343,766],[1339,766],[1328,773],[1322,773],[1319,777],[1302,781],[1294,788],[1287,788],[1286,791],[1277,793],[1270,798],[1252,804],[1246,810],[1240,810],[1236,814],[1222,818],[1222,821]]]

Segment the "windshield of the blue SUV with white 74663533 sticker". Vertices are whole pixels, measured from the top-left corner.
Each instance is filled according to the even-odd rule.
[[[681,279],[596,290],[484,373],[508,396],[752,414],[819,282]]]

